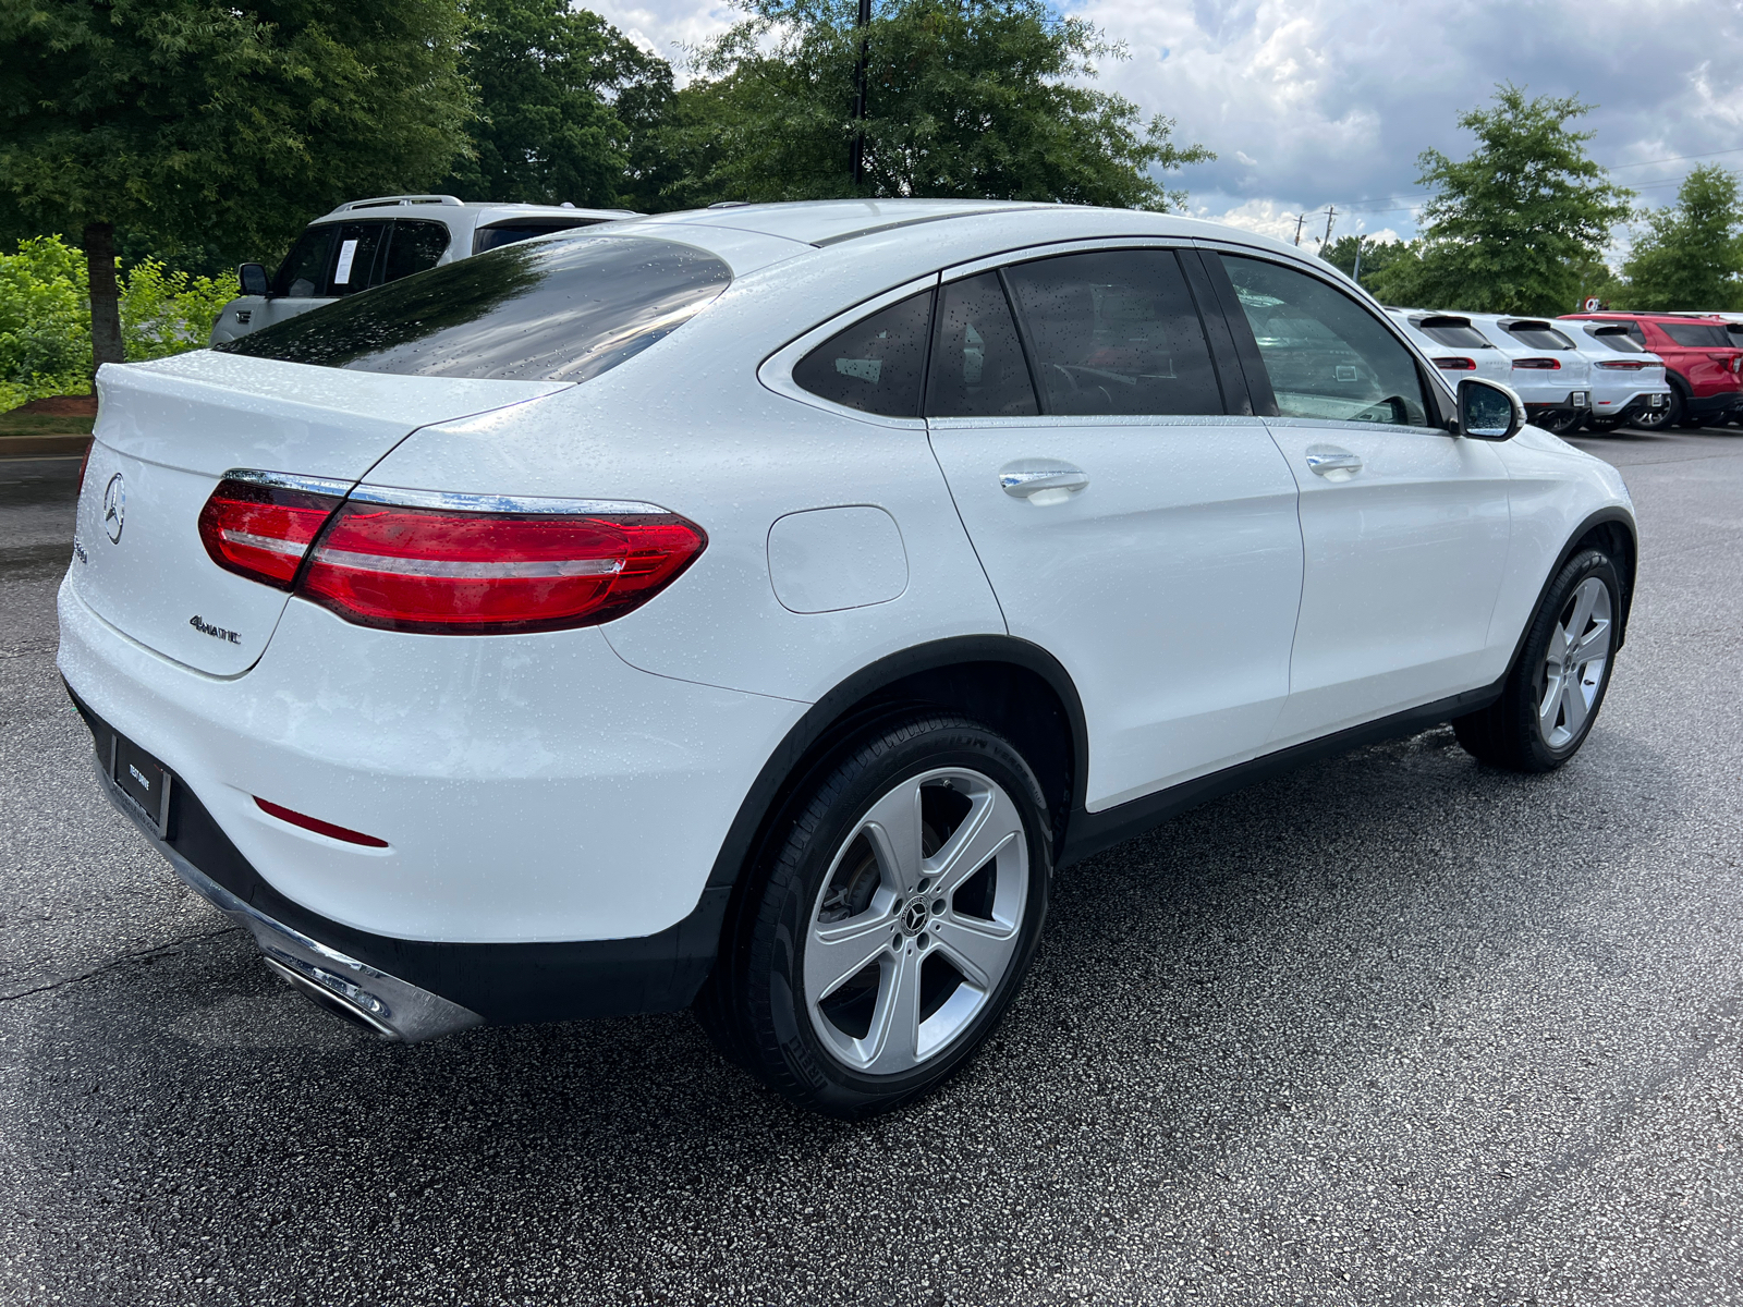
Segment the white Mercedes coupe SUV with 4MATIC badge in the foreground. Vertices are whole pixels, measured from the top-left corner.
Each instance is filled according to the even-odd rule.
[[[1567,762],[1635,579],[1614,469],[1154,213],[641,218],[99,387],[59,667],[281,976],[408,1040],[694,1004],[849,1117],[1061,866],[1440,721]]]

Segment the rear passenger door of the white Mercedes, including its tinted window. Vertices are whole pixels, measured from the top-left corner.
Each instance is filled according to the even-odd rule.
[[[945,275],[933,450],[1011,634],[1077,687],[1091,810],[1253,756],[1288,694],[1295,483],[1231,401],[1173,249]]]

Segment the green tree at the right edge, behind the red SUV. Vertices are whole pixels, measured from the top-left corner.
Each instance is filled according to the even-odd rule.
[[[1677,202],[1638,216],[1644,232],[1623,265],[1630,308],[1743,307],[1743,202],[1738,174],[1706,164],[1677,188]]]

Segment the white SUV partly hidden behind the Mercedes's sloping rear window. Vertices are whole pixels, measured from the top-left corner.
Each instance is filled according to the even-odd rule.
[[[573,204],[465,204],[453,195],[350,200],[309,223],[270,277],[260,263],[237,268],[242,293],[218,314],[211,343],[486,249],[634,216]]]

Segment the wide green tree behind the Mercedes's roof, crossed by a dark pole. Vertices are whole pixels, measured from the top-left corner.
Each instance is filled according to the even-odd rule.
[[[748,17],[695,51],[673,146],[685,200],[844,195],[1182,207],[1159,174],[1213,155],[1177,146],[1121,96],[1081,85],[1124,58],[1046,0],[739,0]],[[866,61],[866,117],[856,68]],[[863,131],[865,178],[852,143]]]

